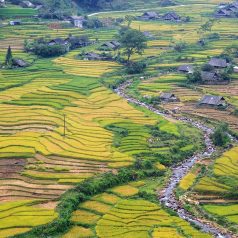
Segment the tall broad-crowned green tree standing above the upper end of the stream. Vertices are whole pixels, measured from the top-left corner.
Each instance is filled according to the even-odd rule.
[[[133,54],[142,55],[147,47],[145,35],[141,31],[130,28],[125,28],[120,31],[119,42],[124,49],[124,55],[127,56],[127,62],[130,61]]]

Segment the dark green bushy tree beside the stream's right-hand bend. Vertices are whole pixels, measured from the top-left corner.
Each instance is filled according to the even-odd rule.
[[[228,136],[228,125],[226,123],[222,123],[215,129],[212,140],[216,146],[226,146],[230,142],[230,138]]]

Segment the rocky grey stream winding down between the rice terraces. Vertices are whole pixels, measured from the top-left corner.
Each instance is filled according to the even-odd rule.
[[[121,84],[117,89],[114,91],[121,97],[125,98],[128,102],[134,103],[136,105],[139,105],[141,107],[147,108],[150,111],[161,115],[165,118],[172,118],[176,119],[177,121],[181,121],[187,124],[190,124],[199,130],[203,132],[204,135],[204,142],[205,142],[205,149],[204,151],[200,153],[194,154],[192,157],[188,158],[187,160],[183,161],[181,164],[177,165],[176,167],[172,167],[172,176],[169,179],[169,182],[167,183],[165,189],[160,193],[159,200],[161,203],[163,203],[166,207],[173,209],[180,218],[190,222],[194,223],[196,226],[198,226],[202,231],[206,233],[211,233],[214,235],[214,237],[218,238],[231,238],[232,234],[228,232],[224,232],[223,230],[213,226],[209,222],[201,221],[200,219],[194,217],[192,214],[190,214],[188,211],[183,209],[180,202],[175,197],[175,188],[178,185],[178,183],[182,180],[182,178],[189,172],[189,170],[193,167],[193,165],[204,158],[210,157],[215,151],[216,148],[212,143],[212,140],[210,139],[211,134],[213,133],[213,129],[202,125],[199,122],[195,122],[190,118],[187,117],[177,117],[173,114],[165,114],[162,111],[154,108],[151,105],[148,105],[144,102],[141,102],[126,93],[126,89],[132,84],[131,80],[126,81],[125,83]]]

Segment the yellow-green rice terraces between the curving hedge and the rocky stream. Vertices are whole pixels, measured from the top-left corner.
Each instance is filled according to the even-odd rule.
[[[82,203],[71,220],[74,226],[63,237],[71,237],[75,231],[87,229],[82,237],[210,237],[184,222],[169,215],[155,203],[137,197],[138,191],[148,186],[147,181],[138,181],[115,187],[107,193]],[[126,193],[125,191],[137,192]],[[88,228],[90,227],[90,229]]]

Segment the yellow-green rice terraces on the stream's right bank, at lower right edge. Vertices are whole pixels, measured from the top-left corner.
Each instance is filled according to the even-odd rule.
[[[202,177],[193,189],[197,193],[195,198],[206,212],[236,224],[237,198],[232,194],[237,185],[237,153],[237,147],[234,147],[216,159],[213,175]]]

